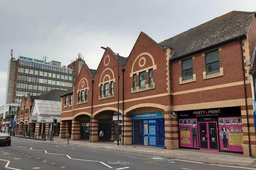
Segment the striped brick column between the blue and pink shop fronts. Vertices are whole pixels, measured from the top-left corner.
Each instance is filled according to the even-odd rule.
[[[172,111],[163,111],[164,115],[164,130],[165,140],[164,145],[167,149],[179,148],[179,134],[178,134],[178,118],[172,115]]]

